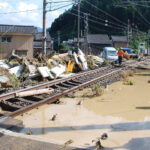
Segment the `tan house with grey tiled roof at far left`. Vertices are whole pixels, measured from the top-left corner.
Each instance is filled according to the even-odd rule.
[[[12,50],[19,56],[33,57],[34,26],[0,25],[0,57],[6,58]]]

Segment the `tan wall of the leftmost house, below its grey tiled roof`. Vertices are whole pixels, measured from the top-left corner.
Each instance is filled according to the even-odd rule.
[[[1,46],[1,58],[7,58],[9,55],[11,55],[12,50],[17,51],[27,51],[27,57],[32,58],[33,57],[33,35],[27,34],[27,35],[13,35],[10,34],[3,37],[11,37],[10,43],[0,43]],[[1,39],[0,39],[1,40]]]

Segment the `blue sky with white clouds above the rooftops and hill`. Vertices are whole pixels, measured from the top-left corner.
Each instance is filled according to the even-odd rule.
[[[52,1],[52,0],[47,0]],[[56,0],[53,0],[56,1]],[[59,1],[59,0],[57,0]],[[64,4],[53,4],[53,8],[57,8]],[[0,0],[0,24],[11,24],[11,25],[34,25],[42,27],[42,7],[43,0]],[[65,7],[60,10],[51,11],[47,14],[47,27],[50,27],[52,22],[65,10],[69,9],[71,6]],[[50,6],[48,5],[48,8]],[[32,12],[21,12],[21,13],[9,13],[7,12],[19,12],[32,10]]]

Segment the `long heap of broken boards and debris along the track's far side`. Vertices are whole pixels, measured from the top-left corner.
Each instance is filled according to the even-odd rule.
[[[37,54],[28,59],[12,53],[6,60],[0,60],[0,89],[32,86],[57,78],[69,77],[74,73],[95,69],[106,64],[98,56],[85,56],[79,49],[74,52],[53,55],[50,58]]]

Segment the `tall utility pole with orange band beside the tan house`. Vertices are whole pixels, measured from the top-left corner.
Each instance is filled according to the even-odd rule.
[[[42,50],[43,55],[46,56],[46,0],[43,0],[43,41],[42,41]]]

